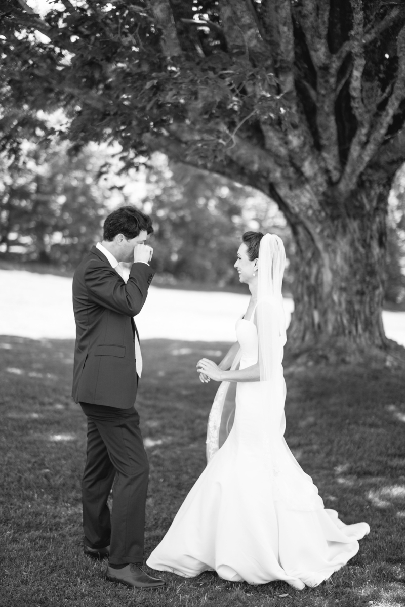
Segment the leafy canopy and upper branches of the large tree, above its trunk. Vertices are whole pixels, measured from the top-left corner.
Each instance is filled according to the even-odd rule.
[[[66,0],[42,18],[4,0],[2,144],[35,129],[27,109],[63,106],[78,145],[251,181],[249,144],[276,189],[297,172],[349,194],[370,161],[404,160],[404,25],[403,3],[380,0]]]

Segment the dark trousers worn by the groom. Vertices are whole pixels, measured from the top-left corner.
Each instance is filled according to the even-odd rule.
[[[134,407],[116,409],[81,402],[87,416],[83,473],[83,530],[90,548],[110,544],[116,565],[143,561],[149,464]],[[113,516],[107,498],[111,487]]]

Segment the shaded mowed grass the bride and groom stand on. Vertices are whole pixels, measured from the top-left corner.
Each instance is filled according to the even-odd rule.
[[[225,348],[143,343],[137,407],[151,463],[146,558],[205,467],[206,419],[217,384],[200,384],[195,365],[202,355],[218,360]],[[301,592],[280,582],[229,583],[214,572],[186,580],[165,573],[164,589],[136,591],[106,582],[106,561],[83,554],[86,418],[70,398],[72,353],[72,341],[0,337],[2,607],[404,605],[403,370],[285,370],[288,444],[326,507],[346,523],[371,526],[349,565]],[[248,479],[246,487],[254,492]]]

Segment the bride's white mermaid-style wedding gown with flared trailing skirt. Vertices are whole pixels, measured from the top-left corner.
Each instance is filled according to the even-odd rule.
[[[240,318],[236,334],[239,368],[255,364],[256,325]],[[262,382],[237,384],[230,434],[149,557],[152,569],[184,577],[215,570],[232,582],[284,580],[302,589],[321,583],[358,551],[369,525],[345,525],[335,510],[324,509],[318,489],[285,443],[281,361],[282,347],[277,364],[284,395],[274,398],[282,405],[269,407]],[[215,416],[216,401],[211,423]]]

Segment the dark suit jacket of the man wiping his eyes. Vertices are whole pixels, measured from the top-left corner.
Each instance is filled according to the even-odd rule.
[[[128,282],[95,246],[73,277],[76,320],[72,396],[128,409],[137,395],[135,323],[145,304],[154,270],[133,263]]]

